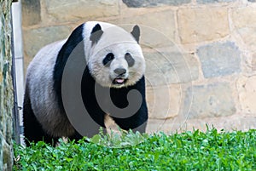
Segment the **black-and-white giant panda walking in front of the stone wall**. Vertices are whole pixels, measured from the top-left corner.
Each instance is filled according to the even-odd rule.
[[[86,136],[97,133],[100,127],[145,132],[148,108],[145,97],[145,60],[139,45],[140,28],[127,32],[106,22],[88,21],[78,26],[66,39],[51,43],[35,55],[26,71],[26,89],[23,105],[23,123],[26,145],[44,140],[54,144],[61,137],[79,140],[82,135],[67,117],[62,101],[61,82],[65,66],[74,48],[80,45],[79,55],[84,58],[81,96],[90,118],[96,123],[88,128]],[[82,44],[82,45],[81,45]],[[80,57],[81,57],[80,56]],[[113,103],[122,109],[129,105],[127,94],[137,90],[142,102],[129,117],[113,117],[102,110],[96,99],[96,87],[110,91]],[[83,122],[83,121],[81,121]],[[84,121],[85,122],[85,121]],[[84,126],[86,126],[84,124]]]

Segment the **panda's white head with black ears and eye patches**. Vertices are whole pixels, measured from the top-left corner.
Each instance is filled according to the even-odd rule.
[[[96,24],[90,31],[88,65],[96,83],[103,87],[123,88],[143,77],[145,60],[138,44],[140,29],[130,32],[118,26]]]

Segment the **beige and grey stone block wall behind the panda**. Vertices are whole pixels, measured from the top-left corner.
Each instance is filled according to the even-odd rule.
[[[256,128],[251,0],[23,0],[25,65],[86,20],[142,29],[148,132]]]

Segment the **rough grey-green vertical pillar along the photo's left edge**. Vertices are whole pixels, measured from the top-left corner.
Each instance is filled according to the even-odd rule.
[[[0,170],[12,168],[13,84],[10,0],[0,0]]]

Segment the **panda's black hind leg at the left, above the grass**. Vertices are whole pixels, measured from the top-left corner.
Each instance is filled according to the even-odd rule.
[[[30,142],[36,143],[41,140],[44,140],[47,144],[55,145],[58,140],[58,138],[46,134],[41,124],[38,122],[38,119],[35,117],[27,88],[23,101],[23,126],[26,145],[30,145]]]

